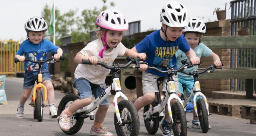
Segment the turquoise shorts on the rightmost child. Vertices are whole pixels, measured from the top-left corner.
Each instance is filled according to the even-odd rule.
[[[186,78],[183,76],[178,76],[178,82],[179,82],[179,92],[182,94],[182,97],[184,97],[184,90],[183,90],[182,84],[186,86],[186,95],[188,95],[193,88],[194,78]],[[193,98],[194,98],[194,95],[191,97],[190,102],[193,102]],[[202,98],[202,97],[197,97],[196,102],[199,98]]]

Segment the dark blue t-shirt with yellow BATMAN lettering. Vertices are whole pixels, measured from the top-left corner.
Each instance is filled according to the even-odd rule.
[[[154,66],[158,69],[164,69],[166,66],[177,69],[175,52],[178,49],[183,52],[190,50],[185,37],[181,35],[174,42],[166,42],[161,38],[160,30],[152,32],[136,45],[136,50],[139,53],[146,52],[148,66]],[[147,72],[166,77],[166,74],[160,74],[154,70]]]

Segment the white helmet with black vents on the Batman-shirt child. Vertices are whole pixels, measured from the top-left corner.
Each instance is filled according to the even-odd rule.
[[[188,26],[188,11],[180,3],[170,1],[164,4],[160,12],[160,22],[170,27]]]

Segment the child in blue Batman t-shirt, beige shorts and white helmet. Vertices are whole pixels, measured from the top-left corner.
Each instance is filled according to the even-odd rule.
[[[188,12],[181,3],[176,1],[167,2],[160,12],[162,22],[161,30],[156,30],[146,36],[132,50],[139,53],[146,52],[148,66],[154,66],[159,69],[165,69],[167,67],[177,68],[175,52],[178,49],[185,52],[184,54],[190,58],[192,64],[198,64],[200,62],[199,58],[196,57],[196,54],[182,35],[183,28],[188,26],[187,16]],[[147,65],[140,65],[140,68],[144,67],[147,67]],[[143,96],[139,97],[134,103],[137,110],[153,102],[155,92],[158,92],[157,78],[159,77],[165,77],[163,91],[166,91],[166,74],[160,74],[153,70],[147,70],[142,73]],[[178,94],[178,78],[173,76],[173,79]],[[171,124],[169,123],[170,117],[167,112],[167,106],[165,113],[166,116],[161,128],[163,130],[163,136],[173,135]]]

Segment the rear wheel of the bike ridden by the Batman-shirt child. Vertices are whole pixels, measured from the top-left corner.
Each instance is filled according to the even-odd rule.
[[[154,102],[144,106],[143,113],[147,112],[150,108],[153,108],[154,106],[156,106]],[[156,134],[159,127],[159,114],[155,113],[148,119],[145,119],[144,117],[144,124],[149,134]]]

